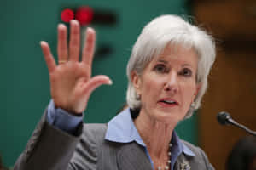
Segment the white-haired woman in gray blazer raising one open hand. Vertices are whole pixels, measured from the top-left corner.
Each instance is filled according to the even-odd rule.
[[[79,23],[58,26],[58,63],[41,42],[52,100],[15,169],[213,169],[204,152],[177,137],[177,123],[200,106],[215,59],[212,38],[178,16],[148,23],[127,65],[127,105],[108,125],[84,124],[91,92],[111,84],[90,77],[95,31],[79,61]]]

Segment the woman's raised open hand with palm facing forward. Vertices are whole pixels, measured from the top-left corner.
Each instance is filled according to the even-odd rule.
[[[82,113],[87,106],[90,94],[102,84],[112,84],[109,77],[91,77],[96,33],[87,28],[82,60],[79,61],[80,26],[70,22],[70,41],[67,48],[67,27],[58,26],[58,65],[55,63],[47,42],[41,42],[44,59],[49,70],[50,94],[55,106],[75,114]]]

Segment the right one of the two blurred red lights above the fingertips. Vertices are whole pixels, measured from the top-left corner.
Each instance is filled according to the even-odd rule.
[[[75,19],[79,21],[81,26],[90,24],[93,19],[93,10],[88,6],[80,7],[77,9]]]

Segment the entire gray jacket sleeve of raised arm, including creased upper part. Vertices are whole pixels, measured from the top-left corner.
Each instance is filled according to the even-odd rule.
[[[79,170],[81,162],[96,166],[96,146],[93,139],[81,140],[83,123],[76,136],[61,131],[46,122],[46,111],[15,163],[15,170]],[[83,138],[84,139],[84,138]],[[83,146],[83,147],[81,147]],[[86,149],[86,150],[84,150]],[[91,166],[91,165],[90,165]],[[89,166],[89,167],[90,167]]]

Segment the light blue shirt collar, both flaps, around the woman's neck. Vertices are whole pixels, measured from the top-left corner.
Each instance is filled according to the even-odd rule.
[[[143,139],[137,132],[137,128],[135,127],[132,118],[131,111],[129,108],[121,111],[117,116],[114,116],[113,119],[108,122],[108,129],[105,136],[105,139],[118,143],[130,143],[132,141],[136,141],[138,144],[144,144]],[[172,150],[184,154],[188,156],[195,156],[192,150],[189,150],[188,146],[183,144],[183,142],[177,136],[177,133],[173,131],[172,133]]]

